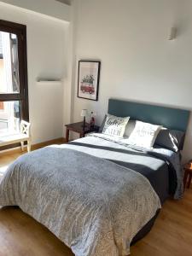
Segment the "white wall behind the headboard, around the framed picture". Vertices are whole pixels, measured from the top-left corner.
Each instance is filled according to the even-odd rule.
[[[79,0],[76,20],[76,71],[80,59],[102,61],[99,101],[77,97],[73,119],[80,110],[95,110],[101,123],[108,98],[192,108],[191,0]],[[172,26],[177,39],[168,41]],[[184,159],[192,152],[192,121]]]

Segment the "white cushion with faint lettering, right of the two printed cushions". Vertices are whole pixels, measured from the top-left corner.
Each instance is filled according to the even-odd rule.
[[[131,132],[130,137],[124,140],[124,143],[143,148],[152,148],[161,128],[161,125],[136,121],[134,130]]]

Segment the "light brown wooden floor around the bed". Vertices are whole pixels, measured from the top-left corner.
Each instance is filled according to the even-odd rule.
[[[20,154],[0,154],[1,168]],[[19,208],[0,210],[0,256],[72,256],[49,230]],[[182,201],[166,201],[154,228],[131,247],[132,256],[192,256],[192,189]]]

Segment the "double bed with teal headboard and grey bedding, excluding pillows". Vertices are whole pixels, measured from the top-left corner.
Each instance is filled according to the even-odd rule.
[[[108,113],[186,131],[189,111],[109,100]],[[0,205],[19,206],[77,256],[128,255],[161,205],[182,196],[180,152],[127,147],[100,133],[16,160]]]

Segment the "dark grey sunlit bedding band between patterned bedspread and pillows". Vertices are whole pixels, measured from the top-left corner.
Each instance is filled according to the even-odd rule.
[[[175,192],[176,172],[167,160],[160,159],[156,155],[127,148],[119,143],[95,136],[80,138],[69,145],[75,150],[113,161],[120,166],[141,173],[148,178],[154,191],[159,195],[161,204]],[[168,151],[169,155],[174,154],[171,150]]]

